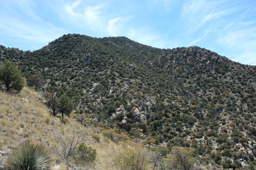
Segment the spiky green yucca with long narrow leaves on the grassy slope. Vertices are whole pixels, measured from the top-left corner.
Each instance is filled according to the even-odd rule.
[[[26,141],[8,154],[4,167],[5,170],[50,170],[52,163],[47,147]]]

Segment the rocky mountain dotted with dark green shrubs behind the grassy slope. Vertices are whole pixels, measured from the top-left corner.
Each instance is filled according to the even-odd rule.
[[[33,52],[0,46],[0,59],[25,78],[44,76],[46,91],[67,94],[95,126],[167,149],[195,147],[201,164],[240,168],[256,158],[256,66],[196,46],[79,34]]]

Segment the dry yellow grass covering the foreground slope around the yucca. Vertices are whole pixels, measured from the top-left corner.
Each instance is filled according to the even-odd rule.
[[[28,102],[20,98],[25,98]],[[28,139],[60,151],[61,135],[67,137],[73,132],[83,133],[87,134],[84,144],[97,152],[95,164],[85,166],[93,170],[114,170],[111,163],[114,151],[120,150],[125,143],[115,144],[102,136],[102,133],[95,134],[92,128],[76,122],[73,116],[65,117],[66,124],[61,123],[58,116],[49,115],[49,109],[44,102],[44,98],[27,87],[24,87],[20,94],[0,91],[0,151],[8,152],[16,144]],[[60,164],[59,170],[67,169],[70,165],[75,166],[72,162],[67,165],[55,151],[52,153]]]

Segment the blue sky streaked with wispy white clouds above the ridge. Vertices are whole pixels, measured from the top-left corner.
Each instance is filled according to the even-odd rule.
[[[0,45],[23,51],[77,33],[256,65],[256,0],[0,0],[0,16]]]

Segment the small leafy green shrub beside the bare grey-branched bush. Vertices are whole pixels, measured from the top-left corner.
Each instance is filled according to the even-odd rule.
[[[76,153],[74,155],[74,160],[76,164],[82,164],[83,162],[92,163],[95,161],[96,155],[96,149],[87,147],[84,144],[79,144],[79,147],[76,149]]]

